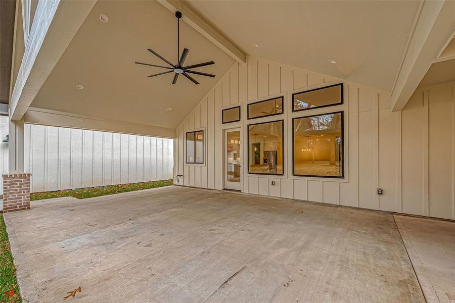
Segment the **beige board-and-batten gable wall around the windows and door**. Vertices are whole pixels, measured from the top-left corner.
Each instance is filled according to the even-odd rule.
[[[292,93],[341,82],[343,105],[292,113]],[[431,99],[431,93],[428,94]],[[248,103],[278,96],[284,96],[283,115],[247,120]],[[455,219],[453,92],[451,99],[446,97],[444,106],[436,101],[428,106],[431,103],[428,96],[426,100],[426,107],[425,100],[421,104],[411,100],[402,112],[391,112],[389,92],[248,58],[245,64],[235,63],[177,127],[174,168],[175,176],[183,177],[175,177],[174,183],[223,189],[223,132],[240,127],[243,192]],[[420,104],[419,109],[415,109],[419,107],[416,103]],[[238,105],[242,121],[222,124],[221,110]],[[292,176],[292,118],[340,110],[344,111],[345,178]],[[281,119],[285,121],[284,175],[248,174],[245,156],[248,124]],[[185,133],[191,130],[204,130],[202,165],[185,161]],[[445,151],[433,142],[442,136],[447,136],[443,142],[443,148],[448,148]],[[443,184],[438,182],[442,176],[447,178]],[[377,188],[383,189],[382,195],[377,194]]]

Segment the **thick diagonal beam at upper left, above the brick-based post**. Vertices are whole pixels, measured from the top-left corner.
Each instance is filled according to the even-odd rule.
[[[39,1],[10,99],[11,120],[24,116],[96,0]]]

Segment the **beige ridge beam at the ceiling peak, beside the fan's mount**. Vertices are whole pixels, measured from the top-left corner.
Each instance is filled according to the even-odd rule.
[[[157,0],[172,13],[180,11],[181,18],[201,35],[209,39],[213,44],[222,49],[223,52],[234,58],[239,63],[246,62],[243,51],[234,44],[228,37],[222,34],[217,28],[211,25],[201,14],[185,2],[179,0]]]

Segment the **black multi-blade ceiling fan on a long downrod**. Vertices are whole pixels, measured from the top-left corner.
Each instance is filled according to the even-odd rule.
[[[165,69],[169,69],[170,71],[150,75],[147,77],[155,77],[159,75],[164,75],[168,73],[175,73],[174,79],[172,80],[172,84],[177,83],[177,78],[179,74],[184,75],[187,79],[192,81],[194,84],[199,84],[198,81],[196,81],[193,77],[191,77],[189,74],[195,74],[195,75],[201,75],[201,76],[206,76],[206,77],[215,77],[213,74],[207,74],[207,73],[202,73],[202,72],[197,72],[197,71],[192,71],[191,69],[198,68],[198,67],[203,67],[207,65],[212,65],[215,64],[213,61],[208,61],[204,63],[199,63],[199,64],[193,64],[193,65],[187,65],[184,66],[185,60],[187,59],[188,53],[190,50],[188,48],[184,48],[183,52],[181,53],[180,59],[178,59],[178,54],[179,54],[179,49],[180,49],[180,18],[181,18],[181,12],[175,12],[175,17],[177,18],[177,64],[172,64],[170,61],[165,59],[164,57],[160,56],[157,52],[155,52],[153,49],[148,48],[147,50],[155,55],[156,57],[160,58],[164,62],[166,62],[168,65],[171,67],[167,66],[161,66],[161,65],[155,65],[155,64],[148,64],[148,63],[142,63],[142,62],[134,62],[135,64],[142,64],[142,65],[148,65],[148,66],[154,66],[154,67],[161,67]]]

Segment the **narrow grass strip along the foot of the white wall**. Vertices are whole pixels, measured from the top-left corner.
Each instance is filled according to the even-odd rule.
[[[50,198],[59,198],[59,197],[75,197],[78,199],[85,199],[85,198],[91,198],[91,197],[98,197],[98,196],[102,196],[102,195],[149,189],[149,188],[156,188],[156,187],[162,187],[162,186],[168,186],[168,185],[172,185],[172,180],[120,184],[120,185],[110,185],[110,186],[94,187],[94,188],[80,188],[80,189],[72,189],[72,190],[34,192],[34,193],[30,194],[30,200],[41,200],[41,199],[50,199]]]

